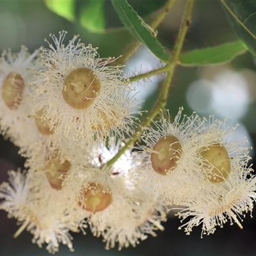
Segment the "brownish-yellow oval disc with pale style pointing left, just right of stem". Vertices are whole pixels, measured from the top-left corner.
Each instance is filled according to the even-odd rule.
[[[182,145],[175,136],[166,135],[157,141],[152,150],[147,148],[147,151],[151,152],[150,160],[154,171],[167,175],[177,167]]]

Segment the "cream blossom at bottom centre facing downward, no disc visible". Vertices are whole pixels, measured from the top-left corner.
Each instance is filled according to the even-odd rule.
[[[148,234],[156,236],[156,230],[164,230],[161,221],[167,220],[166,212],[166,205],[139,188],[127,191],[123,204],[116,209],[115,221],[102,234],[106,249],[115,247],[115,243],[118,243],[118,250],[130,244],[135,247]]]

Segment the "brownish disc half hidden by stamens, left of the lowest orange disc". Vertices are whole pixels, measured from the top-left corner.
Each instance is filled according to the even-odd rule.
[[[67,173],[71,168],[71,163],[65,160],[61,163],[60,159],[52,158],[45,168],[47,180],[49,181],[52,188],[60,190],[62,188],[63,179],[60,176],[63,173]]]

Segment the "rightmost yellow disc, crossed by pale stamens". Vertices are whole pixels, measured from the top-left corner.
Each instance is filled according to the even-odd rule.
[[[209,168],[209,180],[216,183],[226,179],[230,173],[230,158],[226,148],[216,143],[201,149],[199,155],[205,159],[203,166]]]

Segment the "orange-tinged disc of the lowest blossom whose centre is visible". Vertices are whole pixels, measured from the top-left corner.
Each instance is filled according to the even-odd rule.
[[[92,189],[81,191],[84,202],[78,202],[79,206],[93,213],[103,211],[112,203],[111,193],[103,192],[100,184],[92,182],[89,185]]]

